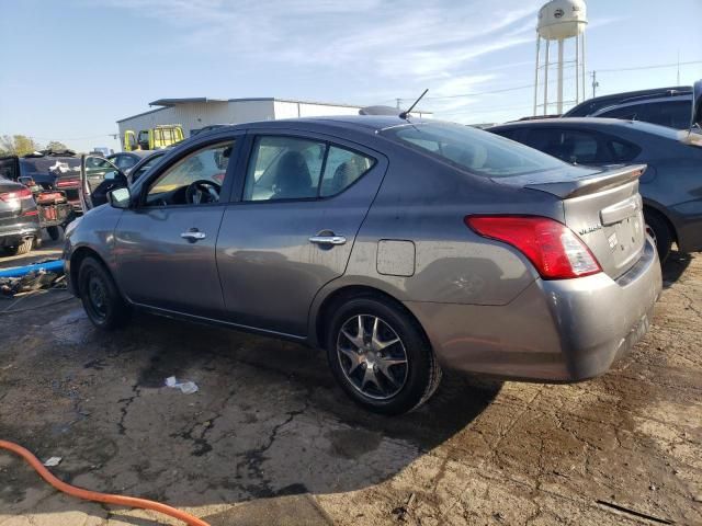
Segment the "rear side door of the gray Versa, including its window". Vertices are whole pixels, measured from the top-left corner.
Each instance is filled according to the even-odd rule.
[[[387,169],[378,152],[312,134],[252,133],[217,265],[227,319],[304,336],[315,295],[343,274]]]

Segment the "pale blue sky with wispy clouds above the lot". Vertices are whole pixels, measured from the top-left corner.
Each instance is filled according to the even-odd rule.
[[[424,88],[421,107],[437,118],[514,119],[532,114],[543,3],[0,0],[0,135],[117,150],[115,122],[157,99],[407,106]],[[702,79],[702,0],[589,0],[587,10],[598,95]]]

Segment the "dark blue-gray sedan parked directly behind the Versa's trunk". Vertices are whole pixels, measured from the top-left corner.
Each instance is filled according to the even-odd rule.
[[[646,163],[641,178],[644,216],[665,261],[672,242],[702,250],[702,135],[637,121],[548,118],[510,123],[489,132],[590,165]]]

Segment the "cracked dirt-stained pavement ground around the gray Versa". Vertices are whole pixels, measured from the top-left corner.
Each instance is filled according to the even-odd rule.
[[[75,299],[0,315],[0,437],[61,457],[68,482],[213,526],[702,524],[702,256],[673,254],[665,277],[652,331],[610,374],[449,375],[394,419],[294,344],[144,315],[105,336]],[[178,523],[63,496],[0,453],[0,526],[155,524]]]

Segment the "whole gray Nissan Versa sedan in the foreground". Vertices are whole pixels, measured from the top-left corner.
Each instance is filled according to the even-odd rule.
[[[626,353],[661,289],[645,168],[398,116],[226,126],[71,224],[66,271],[99,328],[141,308],[319,346],[401,413],[442,368],[577,381]]]

